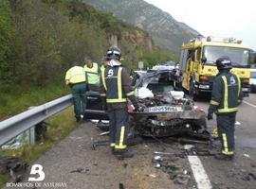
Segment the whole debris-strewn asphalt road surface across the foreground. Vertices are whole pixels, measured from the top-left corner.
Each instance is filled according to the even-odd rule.
[[[209,102],[202,99],[196,105],[207,111]],[[183,145],[147,141],[131,147],[135,153],[134,158],[120,161],[111,154],[107,146],[99,146],[93,150],[92,138],[105,140],[107,137],[99,136],[101,130],[92,123],[81,124],[35,162],[43,165],[46,174],[38,188],[256,188],[256,94],[245,98],[239,107],[237,121],[240,125],[235,130],[234,161],[227,163],[216,161],[211,156],[200,156],[200,163],[195,164],[201,164],[205,172],[199,177],[194,174],[201,170],[192,170],[192,162],[188,157],[178,155],[182,152]],[[210,130],[215,125],[214,120],[208,122]],[[155,168],[155,163],[152,163],[154,151],[172,152],[175,155],[164,157],[163,166]],[[209,179],[210,185],[199,183],[205,181],[202,180],[204,176]],[[195,178],[199,178],[199,181]],[[27,178],[24,182],[27,182]],[[50,184],[53,185],[49,187]]]

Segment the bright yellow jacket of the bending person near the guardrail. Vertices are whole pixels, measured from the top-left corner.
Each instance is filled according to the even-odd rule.
[[[70,83],[80,83],[85,81],[85,73],[82,66],[74,66],[66,71],[65,80],[69,80]]]

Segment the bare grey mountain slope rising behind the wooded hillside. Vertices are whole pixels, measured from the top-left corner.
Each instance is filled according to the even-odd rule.
[[[183,42],[199,33],[172,15],[143,0],[82,0],[97,9],[113,12],[119,19],[148,31],[156,45],[179,54]]]

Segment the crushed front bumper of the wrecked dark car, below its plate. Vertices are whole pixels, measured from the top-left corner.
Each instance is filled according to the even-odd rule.
[[[174,136],[206,128],[206,114],[189,110],[178,112],[130,112],[131,124],[144,136]]]

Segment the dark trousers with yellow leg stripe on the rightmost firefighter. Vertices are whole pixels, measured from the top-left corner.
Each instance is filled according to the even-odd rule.
[[[236,112],[217,115],[218,135],[222,143],[222,153],[233,155],[234,153],[234,127]]]

